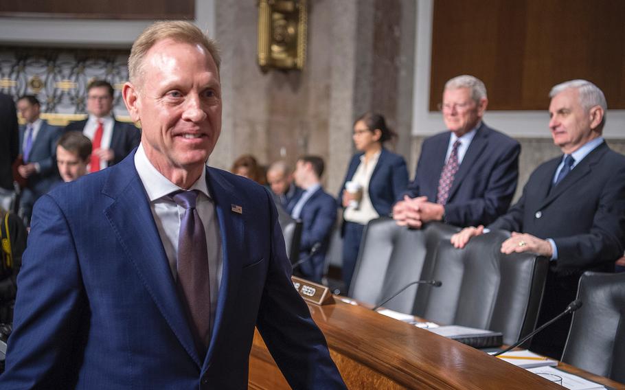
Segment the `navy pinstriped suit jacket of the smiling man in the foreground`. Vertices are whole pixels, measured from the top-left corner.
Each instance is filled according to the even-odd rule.
[[[215,168],[207,184],[223,277],[205,357],[131,153],[35,205],[0,388],[247,389],[257,326],[292,387],[343,389],[293,288],[271,196]]]

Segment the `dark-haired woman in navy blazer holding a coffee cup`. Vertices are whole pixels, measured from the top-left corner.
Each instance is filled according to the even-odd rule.
[[[343,282],[349,291],[363,229],[367,223],[387,216],[408,185],[408,170],[404,158],[383,147],[396,137],[387,127],[383,115],[365,113],[354,123],[356,153],[350,161],[348,173],[339,192],[343,212]],[[354,184],[357,183],[357,184]],[[345,191],[359,187],[358,192]]]

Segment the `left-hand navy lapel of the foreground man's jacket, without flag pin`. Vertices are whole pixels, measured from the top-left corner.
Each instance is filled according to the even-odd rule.
[[[134,153],[110,169],[116,172],[111,172],[102,193],[113,198],[113,203],[104,209],[104,215],[161,314],[200,367],[201,360],[178,297],[148,196],[135,169]],[[141,240],[131,236],[131,232],[141,232]]]

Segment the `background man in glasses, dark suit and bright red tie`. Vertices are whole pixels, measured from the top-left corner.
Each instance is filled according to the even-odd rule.
[[[66,131],[80,131],[91,139],[93,152],[89,172],[119,163],[139,145],[139,129],[115,119],[112,110],[113,86],[105,80],[93,80],[87,86],[89,117],[65,127]]]

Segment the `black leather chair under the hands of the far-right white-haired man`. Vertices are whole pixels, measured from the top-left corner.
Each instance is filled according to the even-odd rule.
[[[503,255],[507,231],[492,231],[470,240],[464,249],[441,242],[422,316],[444,325],[503,333],[512,344],[534,330],[543,297],[549,260],[533,253]]]

